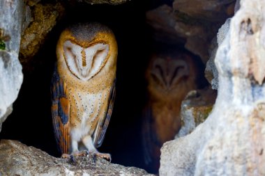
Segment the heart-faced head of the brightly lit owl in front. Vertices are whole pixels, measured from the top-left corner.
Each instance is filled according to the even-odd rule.
[[[117,44],[112,31],[103,24],[75,24],[61,33],[56,55],[58,64],[87,81],[106,65],[116,68]]]

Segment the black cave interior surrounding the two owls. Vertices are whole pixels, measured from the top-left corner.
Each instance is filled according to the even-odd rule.
[[[165,30],[167,33],[163,35],[163,29],[159,31],[153,28],[153,24],[150,24],[151,18],[149,18],[149,23],[146,20],[146,12],[161,6],[172,8],[172,3],[172,0],[128,1],[116,6],[91,5],[89,3],[76,3],[75,1],[63,3],[65,12],[61,20],[48,33],[38,53],[31,58],[20,60],[23,65],[24,81],[17,100],[13,104],[13,113],[3,123],[0,138],[18,140],[26,145],[37,147],[54,157],[60,157],[52,129],[50,99],[50,84],[56,61],[56,42],[61,31],[70,24],[100,22],[114,31],[119,54],[114,111],[105,141],[99,150],[112,154],[113,163],[136,166],[144,168],[150,173],[157,173],[158,170],[154,170],[144,163],[142,148],[142,115],[147,101],[145,72],[151,54],[158,48],[165,49],[168,47],[176,47],[179,51],[187,52],[192,56],[199,70],[197,88],[209,86],[204,78],[206,62],[202,58],[202,54],[196,53],[196,49],[192,50],[185,47],[187,40],[192,40],[192,38],[198,40],[201,36],[192,36],[192,38],[174,36],[173,39],[179,38],[175,43],[168,37],[169,34],[177,35],[178,32],[171,33],[170,29],[169,31]],[[222,8],[226,10],[231,8],[229,6],[234,8],[234,3],[235,1],[229,1]],[[174,14],[181,16],[181,13]],[[232,16],[232,13],[227,13],[225,17],[211,17],[206,24],[202,22],[205,19],[187,17],[193,20],[188,22],[192,25],[204,25],[202,29],[211,28],[210,24],[214,24],[215,29],[212,32],[216,34],[218,28],[229,15]],[[207,17],[205,15],[206,19]],[[158,19],[157,17],[154,18]],[[165,16],[165,18],[165,23],[167,23],[168,17]],[[156,20],[153,23],[156,23]],[[190,25],[190,31],[192,31],[192,25]],[[195,33],[195,35],[201,34],[204,35],[205,33]],[[212,37],[213,35],[209,34],[209,36]],[[211,38],[209,36],[207,36],[207,42]],[[202,42],[204,45],[202,47],[207,47],[206,51],[210,49],[209,43],[204,45]],[[199,43],[195,42],[195,45],[199,45]],[[189,51],[189,49],[194,52]]]

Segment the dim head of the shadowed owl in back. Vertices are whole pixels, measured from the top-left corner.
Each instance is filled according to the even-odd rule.
[[[193,82],[195,70],[186,54],[153,54],[146,77],[153,91],[169,93],[188,81]]]

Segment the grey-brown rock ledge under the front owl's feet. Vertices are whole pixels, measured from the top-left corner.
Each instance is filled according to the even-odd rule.
[[[1,140],[0,175],[150,175],[145,170],[109,163],[105,159],[55,158],[18,141]]]

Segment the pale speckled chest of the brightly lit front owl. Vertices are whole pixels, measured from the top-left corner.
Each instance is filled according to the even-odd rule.
[[[107,112],[107,99],[109,88],[97,93],[89,93],[86,90],[68,88],[70,101],[70,126],[71,128],[93,131],[99,118]]]

